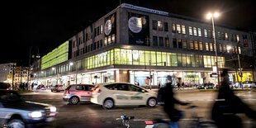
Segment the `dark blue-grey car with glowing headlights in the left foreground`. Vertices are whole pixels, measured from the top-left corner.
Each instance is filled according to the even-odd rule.
[[[0,90],[0,127],[28,127],[53,121],[56,107],[24,101],[15,91]]]

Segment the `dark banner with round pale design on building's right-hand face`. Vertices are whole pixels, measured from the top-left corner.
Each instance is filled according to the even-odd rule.
[[[129,44],[150,45],[149,16],[128,12]]]

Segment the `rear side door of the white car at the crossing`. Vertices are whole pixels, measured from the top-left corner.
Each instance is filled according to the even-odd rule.
[[[130,96],[132,95],[129,91],[127,83],[116,83],[114,91],[112,92],[115,97],[116,105],[132,105]]]

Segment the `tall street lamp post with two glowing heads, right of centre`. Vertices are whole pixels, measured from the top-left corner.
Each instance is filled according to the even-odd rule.
[[[211,19],[212,23],[212,36],[214,40],[214,45],[215,45],[215,54],[216,54],[216,69],[217,69],[217,75],[218,75],[218,85],[220,86],[220,73],[219,73],[219,68],[218,68],[218,53],[217,53],[217,44],[216,44],[216,32],[215,32],[215,26],[214,26],[214,17],[219,17],[219,13],[215,12],[214,14],[208,13],[207,14],[207,19]]]

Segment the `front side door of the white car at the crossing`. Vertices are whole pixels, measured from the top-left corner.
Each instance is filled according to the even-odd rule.
[[[129,84],[130,101],[134,102],[135,105],[144,105],[149,95],[143,88]]]

